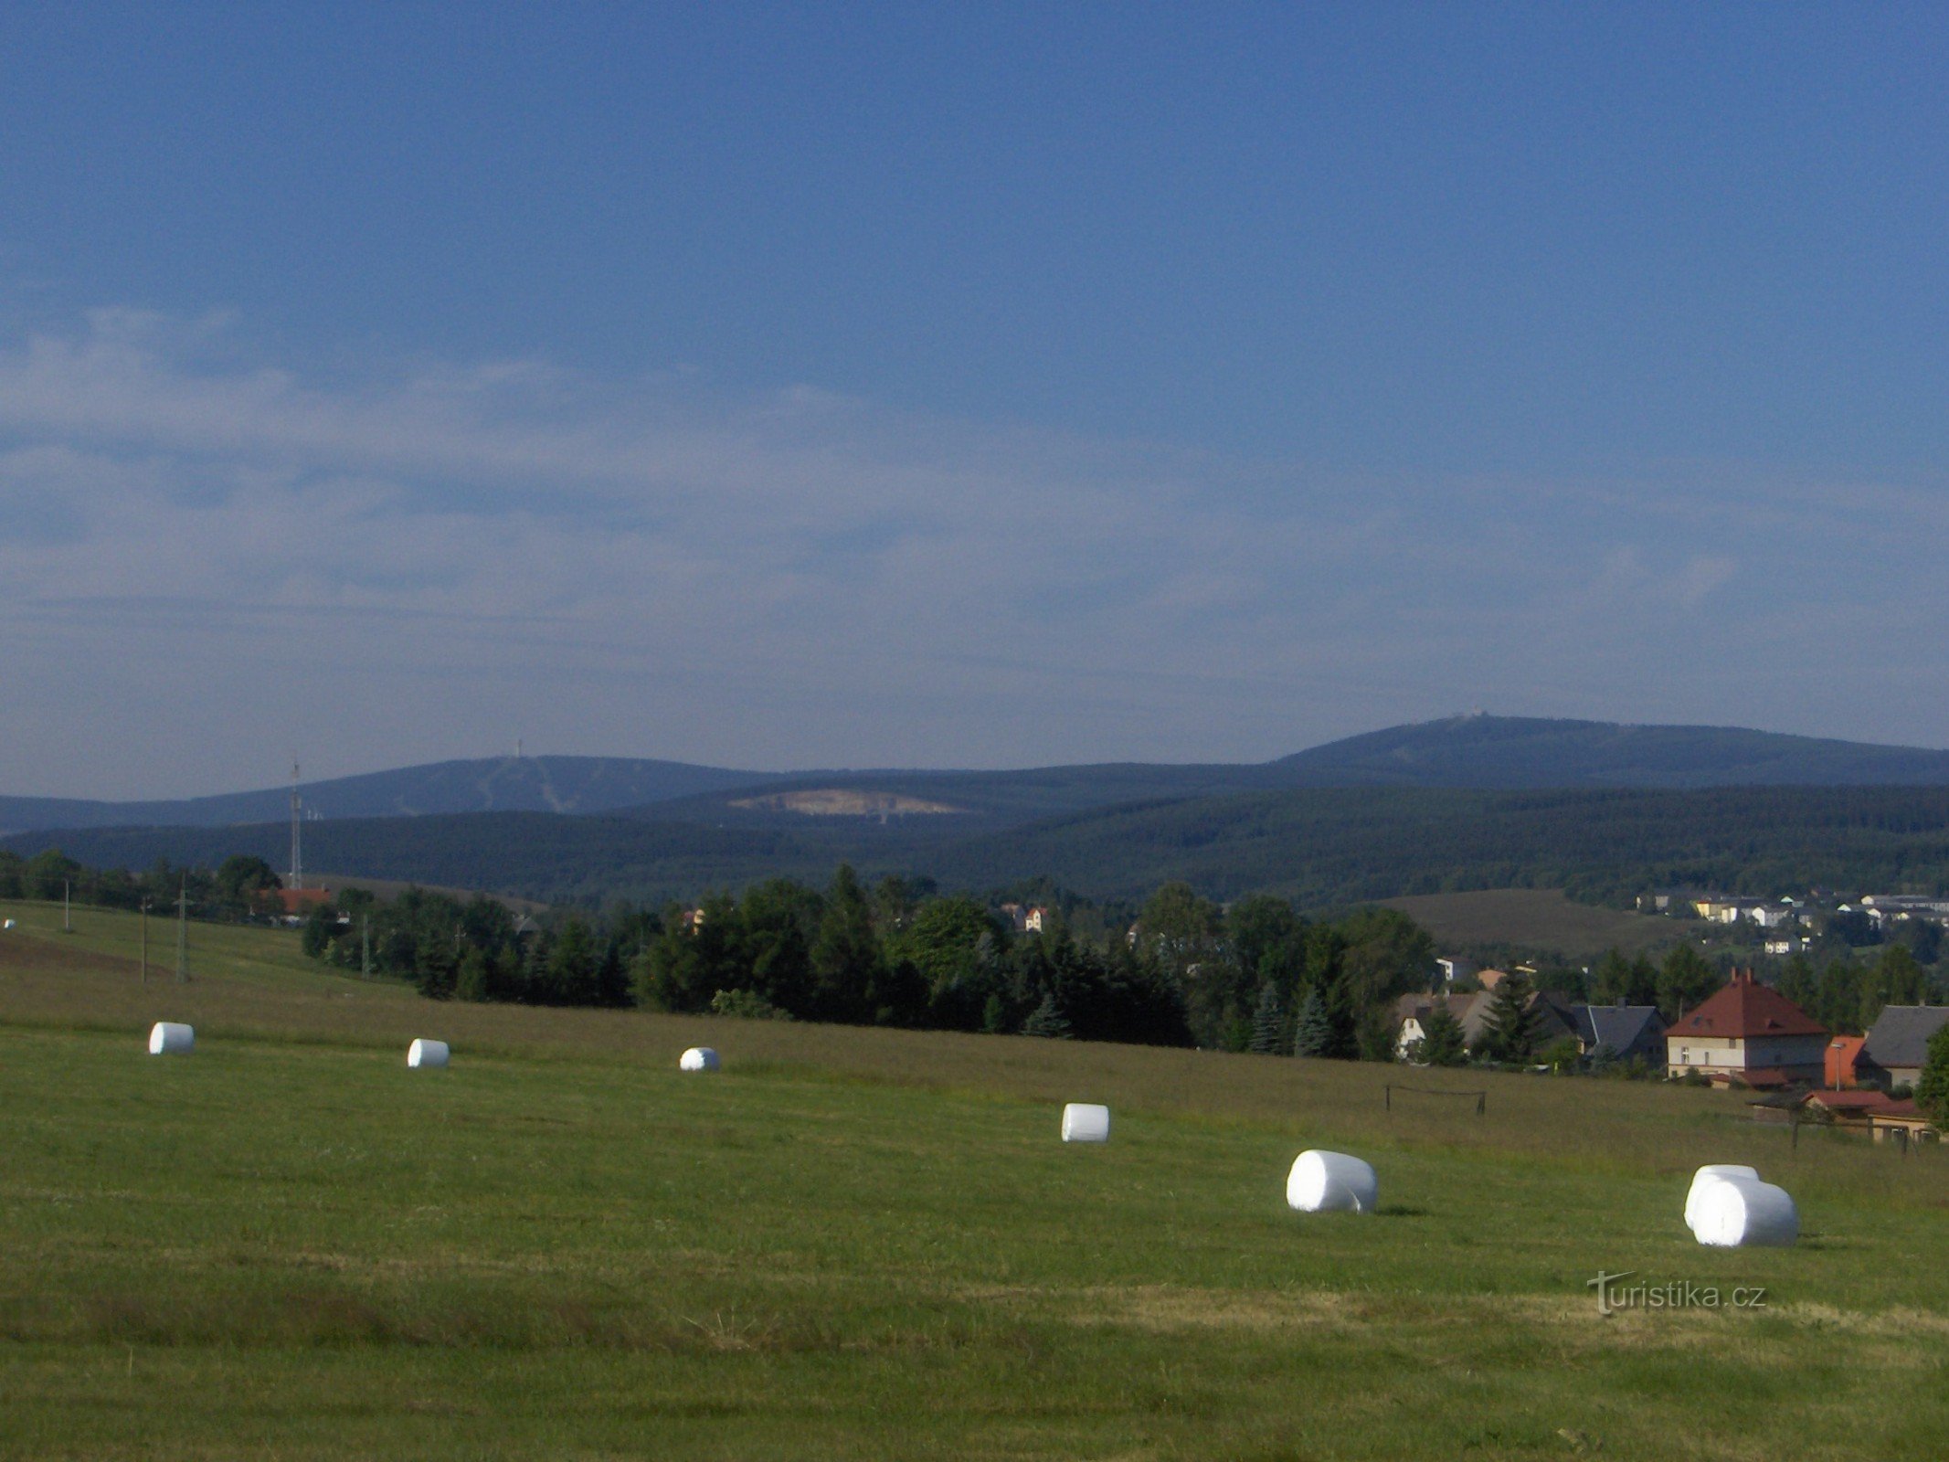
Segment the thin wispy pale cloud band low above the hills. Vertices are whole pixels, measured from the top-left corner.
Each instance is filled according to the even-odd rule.
[[[298,372],[222,316],[96,312],[0,347],[0,772],[1243,758],[1468,704],[1844,729],[1850,637],[1941,610],[1877,528],[1941,505],[1875,491],[1325,480],[682,374]]]

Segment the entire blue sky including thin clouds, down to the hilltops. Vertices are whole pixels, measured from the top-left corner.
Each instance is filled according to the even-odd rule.
[[[10,6],[0,789],[1945,745],[1926,6]]]

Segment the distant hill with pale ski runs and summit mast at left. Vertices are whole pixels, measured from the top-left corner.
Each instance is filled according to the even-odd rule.
[[[608,813],[667,797],[750,788],[766,772],[635,760],[628,756],[491,756],[401,766],[308,782],[314,817],[425,817],[435,813]],[[181,801],[80,801],[0,797],[0,830],[86,827],[226,827],[290,817],[290,788],[230,791]]]

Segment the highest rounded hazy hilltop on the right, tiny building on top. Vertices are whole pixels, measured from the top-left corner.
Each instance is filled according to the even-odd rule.
[[[1949,750],[1719,725],[1452,715],[1275,762],[1294,788],[1739,788],[1949,782]]]

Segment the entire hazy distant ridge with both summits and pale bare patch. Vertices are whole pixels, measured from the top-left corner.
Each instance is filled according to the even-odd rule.
[[[1949,786],[1949,752],[1737,727],[1458,715],[1251,764],[780,774],[622,756],[501,756],[314,782],[304,801],[322,819],[631,811],[655,821],[793,832],[819,821],[914,813],[906,821],[916,825],[916,836],[963,840],[1128,803],[1368,786]],[[288,788],[146,803],[0,797],[0,832],[275,823],[288,817]],[[930,827],[922,832],[920,823]]]

